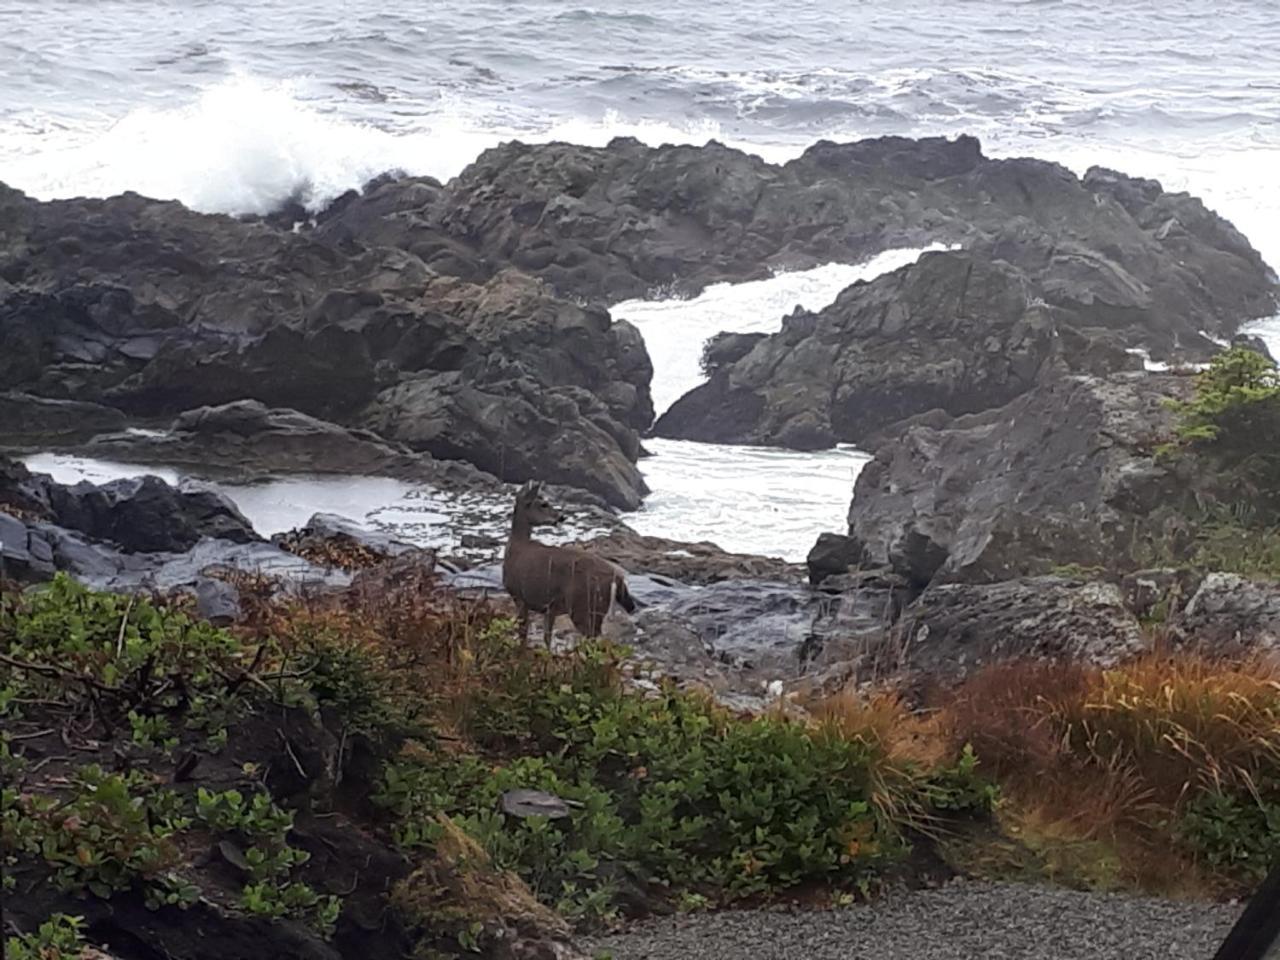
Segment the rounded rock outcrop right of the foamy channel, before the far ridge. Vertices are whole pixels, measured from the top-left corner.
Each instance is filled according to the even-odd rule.
[[[822,449],[931,410],[998,407],[1053,361],[1087,365],[1087,347],[1068,344],[1061,325],[1015,268],[972,252],[927,253],[854,284],[819,314],[786,317],[780,333],[677,401],[654,431]],[[1089,366],[1140,361],[1116,347]]]

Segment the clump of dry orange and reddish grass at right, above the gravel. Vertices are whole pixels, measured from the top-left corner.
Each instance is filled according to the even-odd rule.
[[[1190,869],[1167,824],[1197,794],[1280,772],[1280,669],[1187,653],[1112,669],[1006,663],[942,704],[1024,822],[1117,845],[1134,876]]]

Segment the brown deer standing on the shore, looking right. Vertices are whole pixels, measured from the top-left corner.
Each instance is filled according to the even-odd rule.
[[[627,613],[636,609],[622,567],[586,550],[549,547],[534,539],[535,526],[556,525],[563,518],[543,497],[543,484],[530,480],[516,493],[511,539],[502,558],[502,585],[516,602],[520,637],[529,643],[530,612],[541,613],[548,650],[552,626],[562,613],[584,637],[596,637],[614,600]]]

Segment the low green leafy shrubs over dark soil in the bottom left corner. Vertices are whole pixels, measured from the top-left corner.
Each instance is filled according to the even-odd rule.
[[[253,675],[251,682],[248,669],[279,652],[268,654],[179,609],[90,591],[61,576],[4,599],[0,637],[4,762],[6,783],[15,783],[3,796],[6,887],[14,868],[42,864],[63,891],[104,899],[137,891],[152,909],[186,909],[218,896],[191,869],[192,846],[210,841],[243,874],[234,908],[333,931],[338,897],[294,879],[308,854],[288,841],[292,812],[262,790],[191,790],[165,776],[179,744],[188,758],[221,750],[228,724],[257,705],[253,694],[264,681]],[[284,700],[306,695],[291,689]],[[54,758],[47,776],[14,754],[10,730],[24,723],[60,724],[70,751]],[[88,732],[95,739],[70,740]],[[128,745],[110,749],[113,740]],[[122,769],[76,763],[76,753],[102,755]]]

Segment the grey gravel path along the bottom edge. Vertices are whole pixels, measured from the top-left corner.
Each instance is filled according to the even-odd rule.
[[[588,946],[614,960],[1211,960],[1242,909],[957,882],[846,910],[664,918]]]

